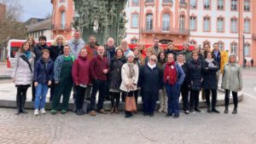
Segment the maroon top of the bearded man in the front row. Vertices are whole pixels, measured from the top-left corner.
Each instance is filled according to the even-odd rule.
[[[90,76],[92,79],[107,80],[107,73],[103,73],[104,69],[108,69],[108,59],[100,55],[94,56],[90,60]]]

